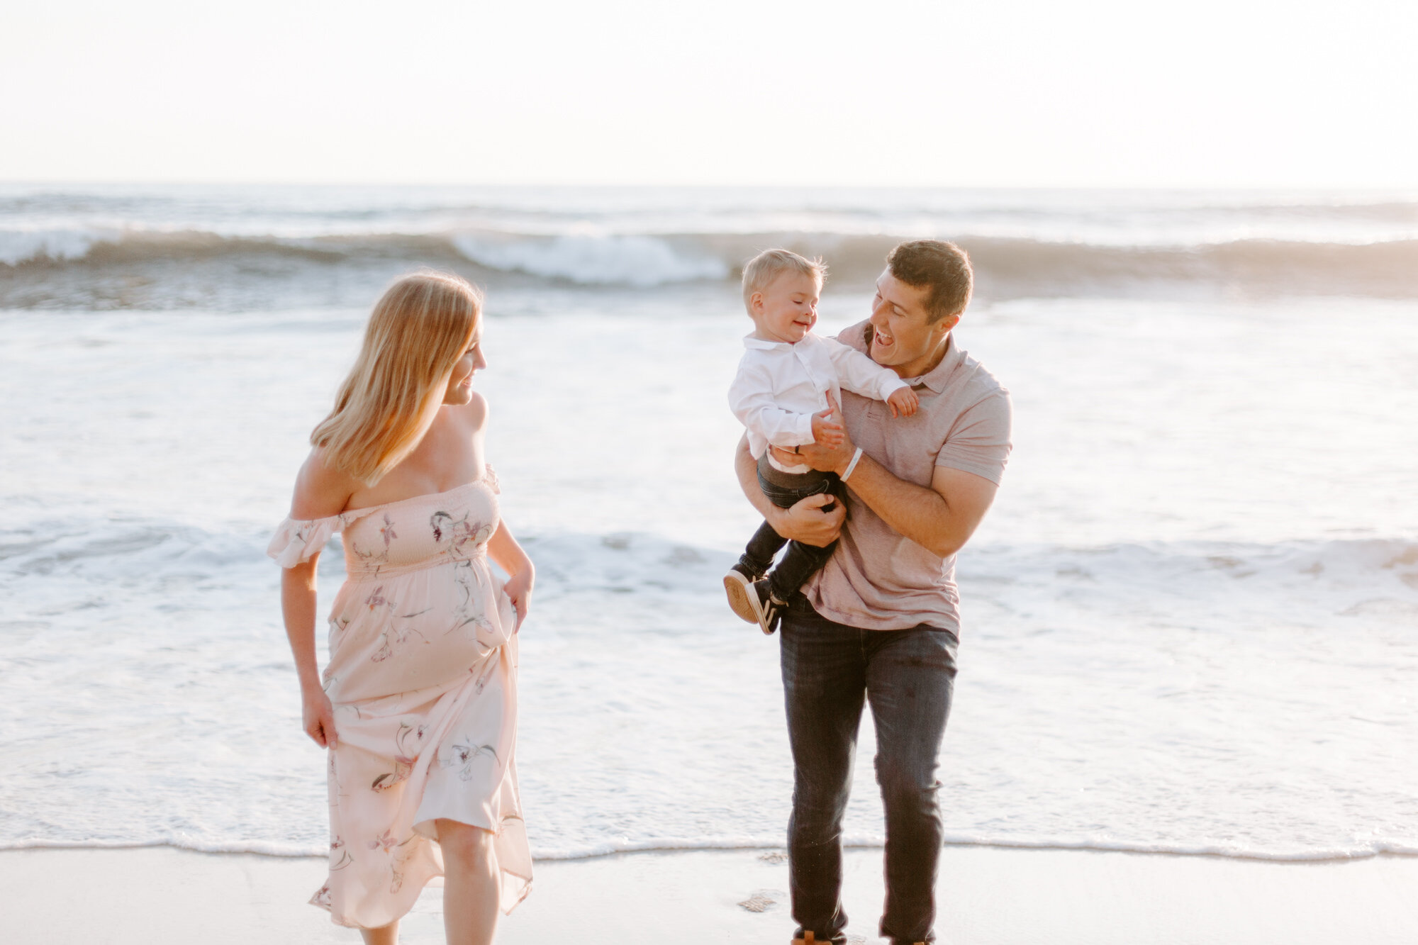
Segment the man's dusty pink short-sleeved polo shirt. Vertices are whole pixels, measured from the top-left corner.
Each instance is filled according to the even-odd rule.
[[[871,325],[837,336],[866,352]],[[946,356],[906,382],[920,397],[912,417],[842,392],[842,417],[852,443],[896,478],[930,487],[937,465],[983,475],[995,485],[1010,458],[1010,392],[950,335]],[[960,634],[956,558],[940,558],[896,532],[851,491],[847,525],[827,565],[803,587],[813,607],[862,630],[905,630],[922,623]]]

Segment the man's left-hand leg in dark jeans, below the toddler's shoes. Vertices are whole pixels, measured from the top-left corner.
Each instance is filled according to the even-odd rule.
[[[852,756],[862,718],[862,634],[825,620],[798,595],[783,616],[780,658],[793,816],[788,883],[797,938],[844,942],[842,814],[852,786]]]

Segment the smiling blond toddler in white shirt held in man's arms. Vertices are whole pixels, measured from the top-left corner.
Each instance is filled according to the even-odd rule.
[[[813,333],[825,275],[821,260],[805,260],[787,250],[766,250],[743,267],[743,304],[753,319],[753,332],[743,339],[746,350],[729,386],[729,407],[749,431],[749,451],[759,461],[759,487],[778,508],[822,492],[842,501],[844,485],[835,472],[781,465],[769,450],[769,446],[795,451],[808,443],[841,444],[841,424],[827,419],[828,393],[834,403],[841,403],[842,387],[885,400],[892,416],[909,417],[919,403],[896,372]],[[828,502],[822,509],[832,507]],[[743,620],[757,623],[763,633],[777,629],[788,597],[827,563],[837,546],[837,542],[827,548],[787,542],[788,551],[774,568],[773,558],[784,541],[763,522],[723,579],[729,606]]]

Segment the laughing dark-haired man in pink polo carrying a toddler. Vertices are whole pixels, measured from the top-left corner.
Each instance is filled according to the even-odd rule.
[[[943,823],[936,763],[956,675],[954,555],[984,518],[1010,454],[1010,394],[954,343],[970,302],[970,260],[950,243],[902,243],[876,280],[868,322],[838,341],[893,369],[920,397],[912,417],[844,392],[847,436],[783,463],[837,472],[848,487],[783,509],[759,488],[747,437],[735,465],[744,495],[784,538],[824,546],[827,565],[781,620],[783,694],[793,749],[788,873],[795,944],[845,942],[841,824],[864,698],[876,725],[886,810],[886,904],[893,945],[934,941]],[[777,447],[769,447],[777,450]]]

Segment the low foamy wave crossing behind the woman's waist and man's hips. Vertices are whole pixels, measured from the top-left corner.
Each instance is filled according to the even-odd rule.
[[[133,590],[183,576],[200,585],[233,569],[271,568],[262,528],[235,534],[191,524],[130,518],[94,526],[14,521],[0,531],[0,589],[41,583],[75,589],[113,585]],[[668,596],[719,602],[723,570],[737,552],[703,548],[645,532],[529,534],[522,538],[537,562],[537,590],[563,595]],[[320,570],[343,572],[339,536],[330,539]],[[971,595],[1003,595],[1025,585],[1073,597],[1225,589],[1225,600],[1248,595],[1273,603],[1276,595],[1312,595],[1329,616],[1418,616],[1418,541],[1404,536],[1262,542],[1119,542],[1105,545],[971,545],[957,563],[957,580]],[[1218,597],[1219,599],[1219,597]]]

